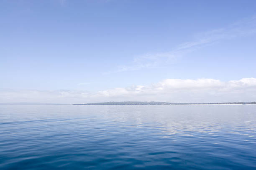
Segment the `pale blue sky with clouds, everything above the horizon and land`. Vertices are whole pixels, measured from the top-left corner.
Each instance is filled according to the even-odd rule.
[[[256,1],[0,1],[0,102],[106,101],[256,101]]]

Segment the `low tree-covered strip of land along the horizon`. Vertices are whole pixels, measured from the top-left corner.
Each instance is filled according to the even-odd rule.
[[[256,104],[256,102],[207,102],[207,103],[177,103],[177,102],[95,102],[73,105],[246,105]]]

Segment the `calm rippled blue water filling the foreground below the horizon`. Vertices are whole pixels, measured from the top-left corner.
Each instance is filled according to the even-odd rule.
[[[0,105],[1,170],[256,169],[256,105]]]

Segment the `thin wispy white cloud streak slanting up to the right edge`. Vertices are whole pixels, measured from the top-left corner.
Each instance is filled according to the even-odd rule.
[[[130,65],[120,65],[115,71],[105,72],[110,74],[114,72],[141,70],[144,68],[156,68],[164,65],[170,65],[177,58],[185,54],[199,50],[202,47],[212,45],[221,40],[232,39],[236,37],[252,35],[256,33],[256,16],[240,20],[225,28],[210,30],[194,35],[194,40],[177,45],[169,52],[148,53],[138,55],[133,59]]]

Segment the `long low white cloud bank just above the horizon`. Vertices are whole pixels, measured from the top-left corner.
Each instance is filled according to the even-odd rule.
[[[79,90],[0,90],[0,102],[86,103],[105,101],[238,102],[256,101],[256,78],[227,82],[202,78],[165,79],[151,85],[97,92]]]

